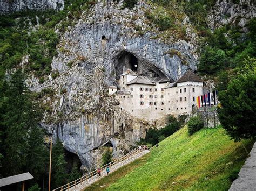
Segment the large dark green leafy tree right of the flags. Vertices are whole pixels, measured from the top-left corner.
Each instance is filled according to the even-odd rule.
[[[255,74],[251,72],[247,75],[239,75],[228,84],[226,91],[221,91],[219,94],[221,102],[221,107],[218,109],[219,120],[228,135],[235,140],[256,138]]]

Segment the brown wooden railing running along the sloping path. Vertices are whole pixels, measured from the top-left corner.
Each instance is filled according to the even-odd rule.
[[[147,149],[149,150],[151,147],[147,147]],[[145,148],[141,148],[139,149],[139,146],[134,148],[131,152],[125,154],[123,157],[119,158],[119,159],[115,159],[112,162],[109,162],[108,164],[100,167],[101,171],[103,171],[104,169],[106,169],[107,166],[111,167],[114,166],[116,164],[118,164],[119,162],[122,162],[132,156],[135,156],[136,154],[140,153],[141,151],[144,151]],[[53,191],[57,191],[57,190],[70,190],[70,188],[74,187],[76,189],[76,186],[79,185],[80,183],[84,182],[84,181],[88,181],[90,178],[93,178],[93,176],[97,175],[97,169],[95,171],[92,171],[90,173],[85,174],[84,176],[82,176],[81,178],[74,180],[72,182],[67,183],[66,185],[63,185],[61,187],[58,187],[56,189],[53,189]]]

